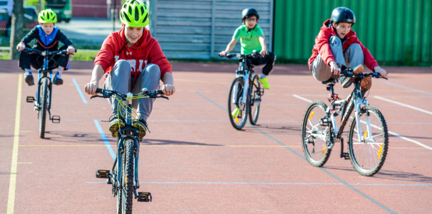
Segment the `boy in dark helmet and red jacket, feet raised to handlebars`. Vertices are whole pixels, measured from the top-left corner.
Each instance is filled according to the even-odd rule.
[[[315,38],[312,55],[308,60],[309,69],[318,81],[338,79],[341,70],[350,69],[355,74],[363,72],[365,64],[381,77],[387,76],[387,71],[378,66],[378,63],[363,46],[351,27],[356,23],[354,13],[345,7],[335,8],[330,19],[326,20]],[[341,84],[348,88],[352,78],[341,78]],[[361,82],[362,91],[371,86],[370,77]]]

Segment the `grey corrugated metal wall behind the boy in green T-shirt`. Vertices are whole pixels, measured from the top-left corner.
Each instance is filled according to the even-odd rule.
[[[149,3],[152,35],[168,58],[218,57],[241,25],[243,9],[249,7],[258,10],[258,24],[271,49],[273,0],[150,0]],[[240,51],[239,43],[233,52]]]

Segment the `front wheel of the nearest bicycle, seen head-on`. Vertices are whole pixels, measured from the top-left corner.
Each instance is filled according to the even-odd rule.
[[[133,179],[134,179],[134,158],[133,158],[133,140],[124,140],[125,153],[122,157],[124,167],[122,168],[122,177],[120,184],[121,210],[122,214],[132,213],[133,199]]]

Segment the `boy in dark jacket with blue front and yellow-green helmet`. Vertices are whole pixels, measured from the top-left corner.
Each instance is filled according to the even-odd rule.
[[[39,25],[35,26],[17,45],[17,50],[22,51],[25,47],[30,47],[28,43],[33,39],[36,39],[37,43],[33,46],[34,49],[42,51],[53,51],[53,50],[67,50],[68,53],[72,54],[75,52],[75,48],[72,42],[57,28],[55,23],[57,22],[57,15],[51,9],[45,9],[39,12],[37,16]],[[59,41],[65,45],[59,47]],[[66,54],[55,55],[53,59],[55,61],[49,62],[49,68],[54,69],[58,66],[56,76],[54,77],[53,83],[55,85],[62,85],[62,73],[63,70],[69,68],[70,55]],[[19,66],[24,70],[24,80],[29,85],[34,85],[33,75],[31,74],[30,64],[39,69],[43,66],[43,56],[36,54],[28,54],[25,51],[20,53]]]

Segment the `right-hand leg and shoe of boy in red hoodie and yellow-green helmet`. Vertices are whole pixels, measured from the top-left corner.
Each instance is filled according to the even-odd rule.
[[[148,64],[137,77],[132,93],[138,94],[143,88],[149,91],[159,88],[161,69],[156,64]],[[141,98],[132,100],[132,107],[137,108],[138,119],[133,121],[132,126],[139,128],[139,141],[146,135],[147,119],[152,113],[154,98]]]

